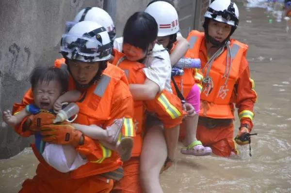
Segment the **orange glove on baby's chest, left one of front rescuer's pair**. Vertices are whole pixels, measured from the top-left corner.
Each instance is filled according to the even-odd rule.
[[[56,116],[48,111],[41,111],[36,115],[30,115],[24,123],[24,129],[30,130],[32,133],[39,132],[44,125],[53,124]]]

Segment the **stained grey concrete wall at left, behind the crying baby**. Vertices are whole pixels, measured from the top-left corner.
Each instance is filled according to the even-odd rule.
[[[21,100],[36,65],[53,65],[60,57],[65,21],[86,6],[103,7],[103,0],[0,0],[0,114]],[[0,159],[20,152],[29,141],[0,116]]]

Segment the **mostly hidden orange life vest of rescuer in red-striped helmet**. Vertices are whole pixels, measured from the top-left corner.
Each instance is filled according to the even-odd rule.
[[[171,52],[175,49],[176,44],[177,42],[174,43],[171,49]],[[187,51],[184,58],[191,58],[191,53]],[[196,71],[193,68],[187,68],[187,69],[182,69],[182,70],[184,70],[184,74],[181,76],[174,76],[174,80],[178,86],[178,89],[183,94],[184,98],[186,98],[190,90],[192,89],[193,85],[195,84],[194,75]],[[172,87],[173,93],[177,95],[177,92],[172,80],[171,80],[171,87]]]

